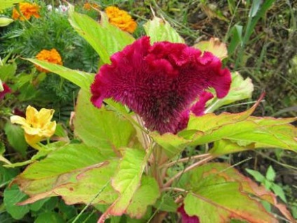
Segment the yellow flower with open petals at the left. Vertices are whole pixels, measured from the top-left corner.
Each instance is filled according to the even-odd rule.
[[[38,112],[29,105],[26,110],[26,119],[21,116],[11,116],[11,123],[21,125],[25,130],[26,142],[33,148],[40,149],[37,143],[55,133],[56,122],[50,121],[54,112],[54,109],[41,109]]]

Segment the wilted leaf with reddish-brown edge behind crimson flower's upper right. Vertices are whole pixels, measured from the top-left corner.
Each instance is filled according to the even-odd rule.
[[[227,46],[225,43],[222,43],[218,38],[210,38],[209,41],[200,41],[196,43],[194,48],[198,48],[202,52],[210,52],[215,55],[217,58],[223,60],[228,57]]]

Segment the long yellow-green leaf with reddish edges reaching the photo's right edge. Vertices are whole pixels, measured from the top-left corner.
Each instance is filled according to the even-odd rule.
[[[230,154],[256,148],[281,148],[297,151],[297,118],[275,119],[249,116],[255,106],[238,114],[222,113],[190,116],[188,127],[178,135],[152,134],[165,151],[181,151],[186,145],[197,146],[214,142],[214,155]],[[174,153],[172,153],[174,154]]]

